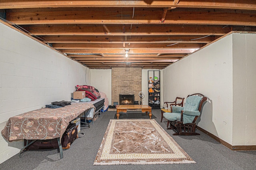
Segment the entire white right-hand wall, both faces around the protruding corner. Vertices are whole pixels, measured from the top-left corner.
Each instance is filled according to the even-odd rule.
[[[256,38],[240,36],[228,35],[164,71],[164,100],[206,95],[198,126],[233,146],[256,145]]]

